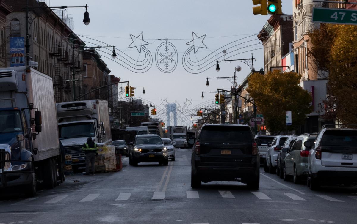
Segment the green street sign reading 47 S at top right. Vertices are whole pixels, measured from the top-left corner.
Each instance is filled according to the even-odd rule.
[[[357,10],[313,8],[312,21],[334,24],[357,24]]]

